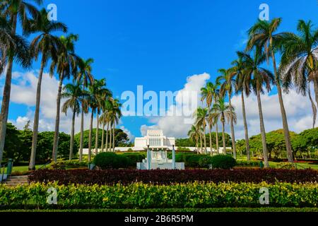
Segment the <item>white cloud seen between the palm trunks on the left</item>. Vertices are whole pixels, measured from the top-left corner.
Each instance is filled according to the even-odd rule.
[[[40,104],[40,121],[39,131],[54,131],[55,117],[57,113],[57,89],[59,81],[57,78],[51,78],[48,73],[43,74],[42,79],[42,92]],[[1,87],[3,89],[3,87]],[[31,121],[30,126],[33,126],[35,95],[37,90],[37,72],[28,71],[25,73],[14,72],[13,84],[11,86],[11,102],[20,105],[26,105],[29,109],[28,112],[21,112],[16,119],[9,119],[11,123],[15,124],[18,129],[23,129],[23,126],[28,120]],[[1,92],[2,93],[2,92]],[[61,100],[61,106],[64,100]],[[33,108],[33,109],[31,109]],[[60,131],[71,133],[71,117],[72,112],[69,110],[67,115],[60,114]],[[90,114],[84,117],[84,129],[89,129]],[[96,126],[96,119],[94,118],[93,126]],[[31,127],[32,129],[33,127]],[[81,129],[81,114],[76,117],[75,132],[78,133]]]

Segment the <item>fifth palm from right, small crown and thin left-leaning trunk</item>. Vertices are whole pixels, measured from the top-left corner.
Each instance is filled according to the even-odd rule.
[[[223,97],[225,96],[225,93],[228,93],[228,102],[230,107],[232,107],[231,98],[232,98],[232,92],[235,88],[235,73],[232,72],[232,70],[228,69],[219,69],[218,72],[221,74],[221,76],[218,76],[216,78],[217,81],[220,82],[220,95]],[[231,126],[231,137],[232,137],[232,150],[233,150],[233,156],[236,159],[236,146],[235,146],[235,132],[234,132],[234,121],[232,113],[230,112],[230,126]]]

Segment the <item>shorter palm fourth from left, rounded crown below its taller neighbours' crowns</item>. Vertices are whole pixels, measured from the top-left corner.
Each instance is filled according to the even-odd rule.
[[[63,93],[61,94],[62,98],[68,98],[64,105],[62,106],[62,112],[67,114],[67,110],[71,109],[72,115],[72,127],[71,127],[71,143],[69,149],[69,160],[73,158],[73,145],[74,145],[74,126],[75,126],[75,117],[81,112],[81,105],[83,102],[86,102],[87,93],[83,93],[81,90],[81,83],[69,83],[64,86]],[[83,111],[83,110],[82,110]]]

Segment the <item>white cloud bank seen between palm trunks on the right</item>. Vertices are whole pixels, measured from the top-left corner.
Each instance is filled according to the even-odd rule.
[[[290,90],[289,94],[283,94],[283,101],[290,131],[299,133],[305,129],[312,128],[312,108],[308,97],[304,97],[296,93],[295,90]],[[283,123],[281,120],[281,109],[278,102],[278,95],[261,95],[261,104],[266,131],[282,129]],[[235,138],[244,138],[245,133],[240,95],[232,97],[232,105],[235,107],[237,114]],[[257,106],[257,97],[255,95],[245,97],[245,109],[247,114],[249,136],[259,134],[259,110]]]

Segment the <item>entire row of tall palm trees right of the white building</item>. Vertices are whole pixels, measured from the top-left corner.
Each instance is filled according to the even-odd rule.
[[[261,95],[276,87],[283,122],[285,149],[288,161],[293,162],[283,91],[288,93],[290,88],[295,88],[298,93],[309,96],[312,104],[314,127],[317,117],[316,105],[318,103],[318,30],[313,28],[312,21],[299,20],[298,34],[277,32],[280,24],[281,18],[275,18],[271,21],[257,21],[248,31],[249,40],[245,51],[237,52],[237,59],[232,62],[232,67],[230,69],[220,69],[218,71],[220,76],[216,78],[216,81],[207,83],[206,87],[201,89],[201,100],[202,102],[205,101],[206,107],[199,107],[196,110],[194,113],[195,124],[189,131],[189,137],[196,141],[198,150],[198,143],[201,142],[201,152],[206,153],[206,126],[210,131],[211,150],[211,130],[213,126],[216,126],[216,150],[218,151],[218,121],[222,123],[223,148],[225,151],[224,126],[225,122],[228,121],[231,130],[232,153],[236,158],[234,129],[236,114],[231,98],[233,95],[241,95],[247,160],[250,160],[245,95],[249,97],[251,93],[254,93],[257,96],[259,109],[264,165],[269,167]],[[276,62],[278,54],[281,55],[279,66]],[[269,64],[270,59],[273,72],[264,67],[265,63]],[[312,84],[314,85],[316,103],[311,95],[310,85]],[[226,97],[228,98],[228,104],[225,103]],[[204,137],[204,150],[202,148],[202,136]]]

